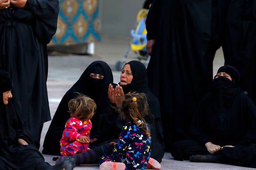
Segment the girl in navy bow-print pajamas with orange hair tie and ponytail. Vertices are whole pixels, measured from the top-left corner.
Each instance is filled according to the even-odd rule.
[[[151,137],[143,117],[148,114],[147,98],[143,93],[125,94],[121,111],[125,124],[112,155],[100,159],[100,170],[144,170],[151,152]]]

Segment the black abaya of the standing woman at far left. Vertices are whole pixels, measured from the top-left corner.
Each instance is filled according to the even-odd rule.
[[[0,10],[0,67],[12,78],[12,101],[39,147],[40,129],[51,120],[46,44],[57,29],[59,2],[27,0],[11,8]]]

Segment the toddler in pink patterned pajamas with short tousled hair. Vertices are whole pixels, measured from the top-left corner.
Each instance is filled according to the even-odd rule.
[[[68,108],[71,118],[66,122],[60,139],[60,157],[87,151],[92,129],[90,119],[96,104],[91,98],[80,94],[68,102]]]

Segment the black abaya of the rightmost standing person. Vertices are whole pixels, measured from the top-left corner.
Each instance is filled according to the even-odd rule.
[[[256,104],[256,1],[230,3],[223,47],[225,65],[234,66],[241,75],[241,89]]]

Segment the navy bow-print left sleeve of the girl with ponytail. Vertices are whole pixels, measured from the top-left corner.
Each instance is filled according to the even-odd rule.
[[[115,148],[112,151],[112,154],[115,156],[122,155],[124,152],[126,152],[128,145],[130,144],[134,134],[131,134],[127,126],[124,126],[120,135],[119,140],[116,143]]]

